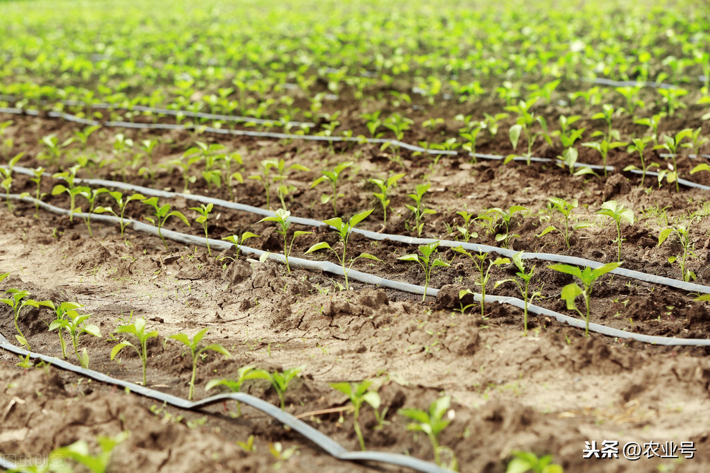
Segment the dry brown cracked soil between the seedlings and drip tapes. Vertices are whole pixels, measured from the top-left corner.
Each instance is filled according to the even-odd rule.
[[[344,110],[339,118],[344,127],[356,134],[366,133],[361,124],[354,122],[354,106],[333,106]],[[457,107],[435,111],[431,107],[422,110],[423,106],[413,108],[411,116],[421,121],[427,114],[443,115],[444,125],[430,133],[410,132],[405,140],[415,143],[456,135],[453,116],[459,112]],[[482,111],[476,113],[482,115]],[[698,113],[690,109],[685,122],[672,126],[692,126]],[[37,158],[39,138],[49,133],[68,137],[77,127],[48,118],[4,117],[9,118],[14,123],[6,128],[6,134],[13,138],[18,150],[26,152],[19,163],[26,167],[45,165]],[[509,125],[501,124],[501,130],[507,130]],[[598,126],[594,121],[584,125]],[[623,133],[639,131],[630,121],[620,121],[618,128]],[[417,235],[411,212],[405,207],[412,203],[407,194],[428,177],[432,185],[425,205],[437,213],[426,216],[422,235],[460,238],[456,226],[463,222],[457,211],[478,214],[484,208],[522,205],[529,211],[513,217],[513,249],[612,262],[616,260],[616,228],[608,218],[595,216],[594,211],[603,201],[615,199],[633,209],[636,216],[633,225],[624,223],[622,227],[626,238],[621,255],[623,267],[675,279],[680,278],[679,267],[668,258],[682,254],[682,247],[674,237],[657,245],[660,229],[665,226],[660,209],[667,208],[670,216],[697,210],[706,215],[710,211],[704,191],[681,189],[677,193],[665,183],[657,189],[654,178],[649,179],[647,185],[652,189],[648,190],[639,186],[640,179],[633,174],[574,177],[554,164],[503,165],[484,160],[471,163],[461,153],[442,157],[430,168],[432,161],[425,156],[402,151],[397,157],[395,150],[382,151],[376,145],[340,144],[331,150],[300,141],[109,128],[92,135],[89,152],[97,160],[110,157],[113,136],[119,131],[136,143],[160,139],[156,165],[180,157],[195,140],[220,143],[240,152],[245,176],[256,174],[258,163],[265,159],[283,158],[287,166],[298,162],[310,169],[326,169],[351,160],[355,164],[344,173],[339,188],[344,196],[338,200],[338,213],[351,216],[375,208],[359,227],[386,233]],[[478,151],[507,155],[511,150],[505,134],[481,140]],[[655,151],[651,153],[651,160],[666,165]],[[538,144],[534,154],[555,157],[561,150]],[[593,150],[580,148],[579,154],[580,162],[601,164]],[[609,164],[622,169],[633,160],[635,157],[628,153],[614,150]],[[694,164],[688,158],[679,160],[684,177],[688,177]],[[82,170],[79,175],[121,180],[121,171],[133,184],[182,191],[180,174],[165,168],[159,168],[155,184],[138,175],[136,169],[111,169],[110,165],[94,167],[91,172]],[[405,172],[406,177],[393,191],[387,224],[383,225],[381,206],[372,195],[376,189],[366,178],[386,177],[388,172]],[[694,180],[710,184],[710,179],[701,174],[695,174]],[[293,215],[332,218],[332,205],[320,201],[321,194],[327,192],[326,186],[310,187],[318,175],[315,171],[297,171],[288,177],[288,184],[296,189],[287,197]],[[16,174],[14,179],[13,192],[34,193],[34,184],[27,177]],[[53,179],[43,179],[43,191],[49,194],[53,184]],[[202,177],[189,189],[193,194],[229,198],[224,187],[210,188]],[[266,206],[266,194],[256,180],[235,184],[234,192],[241,204]],[[537,238],[535,235],[547,225],[560,224],[559,213],[548,211],[550,196],[577,199],[575,218],[598,224],[577,230],[569,248],[557,233]],[[69,206],[65,194],[46,196],[45,201]],[[197,215],[189,210],[197,204],[185,199],[169,202],[185,213],[192,226],[187,228],[173,219],[166,228],[204,236],[200,225],[194,222]],[[77,203],[84,204],[81,198]],[[99,204],[110,205],[110,198],[99,196]],[[271,206],[275,205],[278,199],[272,190]],[[126,215],[144,218],[148,215],[145,209],[140,203],[131,203]],[[70,221],[44,211],[35,218],[34,211],[34,206],[26,203],[13,203],[11,211],[5,206],[0,209],[0,273],[11,272],[0,282],[0,290],[25,289],[37,301],[82,304],[82,311],[92,313],[90,323],[98,325],[104,335],[80,337],[80,350],[87,349],[92,369],[131,382],[141,381],[141,363],[135,353],[125,349],[118,361],[110,360],[111,347],[117,342],[109,335],[121,320],[143,317],[148,329],[160,333],[148,345],[148,386],[187,397],[190,361],[178,343],[167,337],[180,332],[192,336],[209,328],[205,340],[224,345],[232,356],[226,359],[207,352],[200,360],[197,399],[214,394],[214,390],[204,390],[210,379],[234,378],[237,369],[245,365],[270,371],[302,366],[302,377],[286,391],[286,410],[302,416],[351,450],[358,450],[359,446],[351,414],[341,415],[348,403],[329,384],[373,379],[387,411],[383,425],[378,425],[368,406],[361,411],[368,450],[404,453],[432,461],[432,447],[426,435],[408,430],[408,419],[399,415],[398,409],[427,409],[445,393],[452,396],[452,422],[442,431],[440,443],[453,450],[462,472],[504,472],[514,450],[552,454],[554,462],[567,472],[706,472],[709,468],[709,350],[646,345],[595,334],[585,338],[583,330],[538,316],[530,316],[530,331],[525,336],[523,314],[517,308],[488,304],[485,317],[481,317],[478,304],[458,310],[459,290],[479,289],[474,284],[476,273],[471,261],[453,250],[439,254],[452,264],[435,268],[430,282],[430,286],[443,290],[436,299],[422,301],[421,296],[357,282],[351,282],[351,290],[342,291],[344,280],[332,274],[302,269],[288,274],[275,262],[258,262],[244,255],[235,260],[234,250],[213,252],[210,257],[204,247],[185,247],[170,241],[165,250],[159,238],[131,230],[121,236],[117,227],[99,223],[92,225],[93,237],[89,237],[81,218]],[[209,235],[223,238],[249,230],[262,238],[249,240],[248,245],[283,251],[283,240],[275,228],[269,223],[256,223],[258,220],[248,213],[215,208],[209,220]],[[704,285],[710,285],[707,227],[706,218],[692,226],[696,257],[689,260],[696,282]],[[304,255],[308,247],[320,241],[340,248],[335,233],[296,229],[314,233],[297,238],[292,255],[332,258],[323,251]],[[499,245],[493,233],[481,228],[476,231],[479,236],[472,241]],[[360,259],[354,263],[355,269],[424,284],[418,265],[397,259],[416,252],[414,246],[390,240],[375,243],[352,235],[348,250],[349,255],[368,252],[382,260]],[[493,288],[496,280],[515,277],[511,266],[492,269],[488,294],[519,296],[514,284]],[[573,278],[546,266],[537,262],[535,269],[533,283],[542,286],[537,304],[574,316],[574,311],[568,311],[559,298],[562,287]],[[664,286],[605,276],[594,287],[591,307],[592,322],[622,330],[680,338],[710,335],[707,303],[694,302],[692,295]],[[58,335],[47,330],[51,320],[47,308],[28,306],[18,325],[33,350],[61,357]],[[1,333],[13,339],[13,312],[4,304],[0,306],[0,323]],[[0,362],[0,452],[5,455],[48,455],[53,448],[75,440],[128,430],[129,438],[112,455],[111,471],[264,471],[276,462],[269,452],[269,445],[276,442],[284,449],[297,451],[278,465],[281,471],[398,471],[376,464],[334,460],[300,435],[246,406],[239,418],[233,403],[203,411],[180,411],[51,367],[23,369],[16,366],[18,359],[7,352],[0,352]],[[263,380],[246,382],[242,391],[278,404],[275,392]],[[335,411],[316,413],[328,409]],[[249,435],[255,438],[253,452],[245,452],[236,444],[246,442]],[[638,461],[629,461],[621,451],[619,459],[583,458],[586,442],[601,445],[604,440],[618,440],[621,446],[628,442],[692,442],[697,451],[692,459],[683,459],[679,452],[678,460],[642,456]],[[96,441],[91,442],[95,447]],[[450,455],[444,455],[444,460],[449,459]]]

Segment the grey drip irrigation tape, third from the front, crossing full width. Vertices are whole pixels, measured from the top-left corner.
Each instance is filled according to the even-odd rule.
[[[541,158],[542,159],[542,158]],[[6,167],[4,165],[0,167]],[[33,170],[26,167],[15,166],[13,171],[20,174],[26,174],[33,176]],[[51,174],[44,173],[43,175],[50,177]],[[200,196],[199,194],[185,194],[182,192],[172,192],[172,191],[160,191],[158,189],[152,189],[151,187],[136,186],[134,184],[128,184],[126,182],[116,182],[109,181],[106,179],[82,179],[76,178],[75,182],[79,184],[89,184],[93,186],[101,187],[112,187],[115,189],[122,189],[124,191],[133,191],[140,194],[163,197],[165,199],[174,199],[176,197],[182,197],[186,200],[200,202],[200,204],[213,204],[215,206],[220,206],[223,208],[229,208],[231,210],[242,211],[246,213],[253,213],[259,216],[271,217],[274,215],[273,211],[266,210],[266,208],[249,206],[246,204],[237,204],[236,202],[225,201],[224,199],[215,199],[207,196]],[[12,195],[12,194],[11,194]],[[31,198],[30,198],[31,199]],[[34,200],[32,200],[34,201]],[[44,203],[40,203],[44,204]],[[95,215],[95,214],[92,214]],[[92,218],[107,218],[109,216],[94,216]],[[320,220],[315,220],[313,218],[302,218],[297,216],[290,217],[292,223],[298,225],[310,226],[310,227],[326,227],[327,224]],[[147,226],[148,228],[152,228]],[[165,230],[168,231],[168,230]],[[458,247],[461,246],[464,250],[474,251],[474,252],[496,252],[499,255],[505,257],[513,257],[515,255],[514,250],[509,250],[507,248],[501,248],[491,245],[481,245],[479,243],[466,243],[454,240],[437,240],[434,238],[417,238],[409,237],[405,235],[395,235],[391,233],[378,233],[371,230],[362,230],[360,228],[354,228],[351,230],[353,233],[363,235],[365,238],[370,240],[392,240],[398,243],[406,243],[408,245],[427,245],[429,243],[438,241],[439,245],[442,247]],[[197,237],[196,237],[197,238]],[[219,240],[217,240],[219,241]],[[192,244],[192,243],[190,243]],[[199,243],[198,243],[199,244]],[[212,243],[210,243],[212,245]],[[523,253],[523,259],[525,260],[544,260],[552,262],[560,262],[567,265],[577,265],[577,266],[589,266],[592,268],[598,268],[603,265],[601,262],[586,260],[585,258],[567,256],[567,255],[557,255],[554,253],[538,253],[538,252],[525,252]],[[692,282],[680,281],[678,279],[671,279],[669,277],[656,276],[655,274],[647,274],[640,271],[635,271],[633,269],[626,269],[624,267],[618,267],[611,271],[612,274],[618,274],[619,276],[628,277],[631,279],[637,279],[639,281],[648,282],[650,284],[662,284],[665,286],[674,287],[675,289],[681,289],[683,291],[698,292],[702,294],[710,294],[710,287],[703,286],[701,284],[695,284]]]

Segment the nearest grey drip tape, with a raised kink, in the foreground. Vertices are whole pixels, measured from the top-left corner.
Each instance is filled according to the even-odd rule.
[[[325,452],[338,460],[349,460],[349,461],[370,461],[370,462],[381,462],[397,465],[399,467],[406,467],[419,472],[436,472],[436,473],[449,473],[451,470],[445,469],[437,466],[436,464],[425,462],[424,460],[419,460],[414,457],[408,457],[406,455],[400,455],[397,453],[389,452],[349,452],[342,445],[337,443],[332,438],[329,438],[324,433],[319,430],[312,428],[307,423],[300,421],[299,419],[292,416],[290,413],[281,411],[280,408],[269,404],[266,401],[258,399],[257,397],[251,396],[246,393],[229,393],[229,394],[218,394],[217,396],[210,396],[206,399],[200,401],[188,401],[187,399],[182,399],[178,396],[173,396],[172,394],[165,394],[163,392],[157,391],[155,389],[150,389],[140,384],[134,384],[131,382],[124,381],[123,379],[116,379],[109,377],[101,372],[94,371],[93,369],[87,369],[83,367],[78,367],[65,360],[60,360],[59,358],[49,357],[46,355],[40,355],[39,353],[29,352],[21,347],[17,347],[9,343],[9,341],[4,338],[0,333],[0,348],[3,350],[14,353],[15,355],[29,357],[33,360],[42,360],[45,363],[51,364],[55,368],[64,369],[72,373],[79,374],[82,377],[87,377],[94,379],[98,382],[111,384],[114,386],[121,386],[124,389],[130,389],[131,393],[140,394],[149,399],[155,399],[156,401],[169,404],[170,406],[175,406],[181,409],[186,409],[188,411],[197,411],[212,404],[218,404],[224,401],[239,401],[247,406],[251,406],[258,411],[265,413],[272,418],[275,418],[280,423],[288,425],[288,427],[300,433],[305,438],[315,443],[318,447],[322,448]],[[0,457],[1,458],[1,457]],[[0,464],[0,466],[6,466],[8,460],[4,460],[6,463]],[[10,465],[12,468],[14,465]]]

